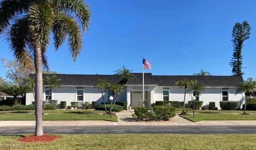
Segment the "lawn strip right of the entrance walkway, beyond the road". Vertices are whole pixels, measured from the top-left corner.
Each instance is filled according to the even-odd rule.
[[[220,114],[220,113],[199,113],[193,115],[180,115],[183,118],[198,122],[202,120],[256,120],[256,114],[242,115],[242,114]]]

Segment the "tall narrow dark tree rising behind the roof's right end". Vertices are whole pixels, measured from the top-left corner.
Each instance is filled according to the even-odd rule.
[[[242,47],[245,40],[250,38],[250,25],[248,22],[244,21],[242,24],[239,22],[233,26],[232,31],[232,40],[233,42],[233,55],[230,62],[230,66],[232,67],[232,73],[234,76],[242,76],[244,72],[242,72]]]

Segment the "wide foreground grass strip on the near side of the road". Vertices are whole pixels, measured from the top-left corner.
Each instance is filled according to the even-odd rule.
[[[0,136],[23,150],[255,150],[255,134],[58,134],[51,142],[24,143],[23,135]],[[6,148],[7,149],[7,148]],[[8,148],[10,149],[10,148]]]

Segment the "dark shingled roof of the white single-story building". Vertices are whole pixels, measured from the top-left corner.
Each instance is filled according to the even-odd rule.
[[[142,85],[142,73],[133,73],[136,78],[128,80],[126,85]],[[43,77],[46,74],[43,74]],[[94,86],[99,79],[104,79],[106,82],[118,83],[120,78],[114,75],[83,75],[83,74],[55,74],[57,78],[62,80],[62,86]],[[30,74],[34,77],[35,74]],[[204,86],[223,86],[235,87],[243,82],[242,76],[154,76],[151,73],[144,73],[144,85],[158,86],[176,86],[175,82],[188,79],[197,80]]]

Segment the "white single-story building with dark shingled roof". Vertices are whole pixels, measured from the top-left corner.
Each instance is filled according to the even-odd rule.
[[[118,101],[126,101],[135,106],[142,106],[142,73],[133,73],[136,78],[128,80],[124,85],[124,92],[120,93]],[[99,79],[116,84],[120,79],[114,75],[78,75],[78,74],[55,74],[62,80],[61,88],[54,87],[49,93],[47,86],[44,86],[43,100],[46,100],[48,94],[50,99],[58,100],[57,108],[60,107],[60,101],[70,102],[90,102],[96,101],[100,105],[102,101],[101,90],[94,88]],[[34,75],[31,75],[34,76]],[[43,75],[45,76],[45,75]],[[184,87],[175,85],[180,80],[196,80],[205,86],[205,92],[196,96],[196,100],[203,101],[203,106],[208,106],[209,102],[215,102],[216,107],[220,109],[220,101],[241,101],[244,103],[245,95],[243,92],[236,93],[236,86],[243,82],[242,76],[159,76],[151,73],[144,74],[144,99],[147,100],[146,106],[156,101],[181,101],[184,100]],[[104,100],[108,101],[111,91],[104,92]],[[191,100],[192,94],[187,92],[185,102]],[[26,105],[34,101],[32,92],[26,94]]]

